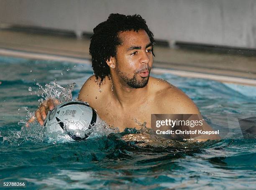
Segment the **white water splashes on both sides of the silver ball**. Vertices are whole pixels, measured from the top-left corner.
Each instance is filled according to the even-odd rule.
[[[63,87],[58,84],[56,81],[53,84],[46,84],[44,87],[39,83],[36,83],[39,86],[38,96],[41,98],[38,100],[40,104],[44,103],[48,99],[53,99],[55,105],[61,104],[64,101],[72,100],[72,91],[74,89],[75,83],[68,84],[67,87]],[[39,93],[40,92],[40,93]],[[3,143],[15,144],[20,146],[25,142],[47,142],[47,143],[62,143],[62,142],[70,142],[74,141],[66,132],[49,132],[46,127],[42,127],[35,118],[36,111],[28,110],[28,107],[25,107],[27,114],[26,120],[20,120],[18,122],[21,125],[21,130],[16,132],[10,137],[3,137]],[[27,121],[30,119],[34,119],[33,122],[29,123],[29,127],[26,127]],[[90,130],[90,138],[99,138],[103,136],[107,136],[110,133],[119,132],[116,128],[108,127],[104,121],[99,122],[99,124],[92,127]],[[84,131],[82,130],[73,130],[73,134],[76,136],[83,136]]]

